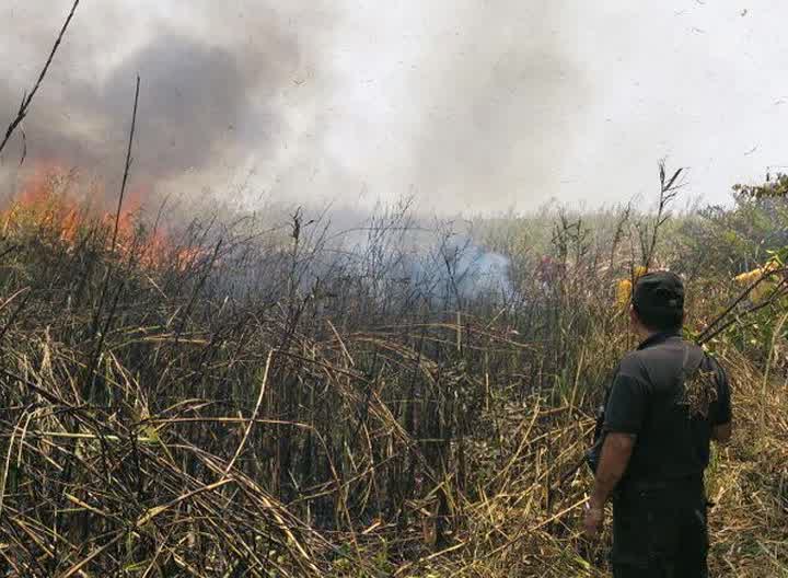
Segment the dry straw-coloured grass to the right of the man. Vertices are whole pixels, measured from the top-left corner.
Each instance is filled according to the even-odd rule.
[[[788,389],[735,349],[721,355],[732,374],[735,434],[709,475],[712,563],[718,576],[788,576]],[[761,408],[768,419],[762,424]]]

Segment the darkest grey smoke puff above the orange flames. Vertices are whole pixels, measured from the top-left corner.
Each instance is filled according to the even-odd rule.
[[[227,151],[263,147],[264,152],[265,136],[277,129],[271,95],[287,81],[282,68],[293,66],[296,55],[287,41],[278,48],[251,70],[227,48],[187,36],[159,36],[113,72],[95,104],[104,105],[106,117],[124,118],[129,80],[137,71],[144,76],[149,89],[139,111],[144,146],[138,154],[139,164],[154,177],[202,169]]]

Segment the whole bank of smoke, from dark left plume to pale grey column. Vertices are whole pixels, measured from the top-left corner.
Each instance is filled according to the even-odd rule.
[[[70,2],[43,4],[0,8],[0,119]],[[227,195],[241,178],[275,199],[367,205],[413,192],[441,212],[547,195],[584,97],[560,3],[277,4],[83,2],[25,123],[28,161],[117,180],[139,73],[135,174],[155,185]]]

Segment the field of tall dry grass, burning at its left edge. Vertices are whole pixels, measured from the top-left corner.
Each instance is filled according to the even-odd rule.
[[[605,576],[578,465],[650,266],[734,388],[714,576],[788,576],[783,181],[675,215],[665,181],[654,211],[339,234],[40,171],[0,221],[0,574]]]

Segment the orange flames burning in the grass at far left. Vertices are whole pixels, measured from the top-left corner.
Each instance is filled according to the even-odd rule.
[[[79,196],[85,192],[86,197]],[[176,246],[161,226],[148,228],[142,222],[143,200],[151,198],[149,188],[130,189],[119,215],[107,208],[91,207],[90,200],[96,198],[105,198],[101,185],[79,183],[72,172],[55,164],[39,166],[0,211],[2,235],[32,232],[73,251],[86,235],[99,232],[103,233],[107,251],[148,268],[172,264],[184,270],[204,256],[200,247]]]

